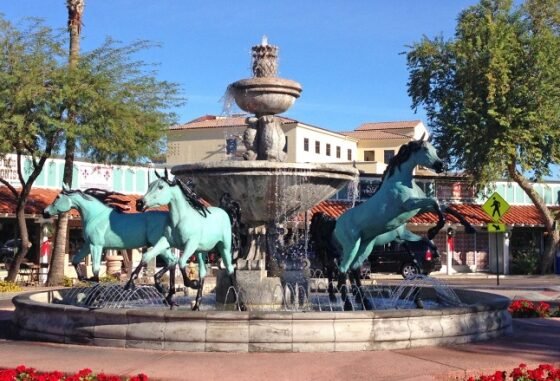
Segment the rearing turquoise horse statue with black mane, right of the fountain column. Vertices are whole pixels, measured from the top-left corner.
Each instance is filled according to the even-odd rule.
[[[339,254],[338,289],[346,310],[352,309],[347,297],[347,277],[350,274],[351,278],[354,278],[359,291],[359,270],[374,246],[394,240],[424,239],[406,228],[407,221],[421,212],[434,211],[439,217],[438,224],[428,232],[428,240],[431,240],[445,223],[442,208],[437,200],[426,197],[414,181],[413,171],[418,165],[437,173],[443,171],[442,160],[433,145],[424,140],[424,135],[420,140],[413,140],[401,146],[383,173],[379,188],[366,202],[348,209],[336,221],[322,214],[314,215],[312,219],[311,236],[315,247],[318,248],[319,257],[324,258],[323,263],[331,279],[336,268],[329,256],[332,258],[333,252]],[[332,283],[329,285],[329,294],[333,298]],[[361,292],[357,292],[356,300],[364,303],[364,307],[368,309],[368,301],[361,295]]]

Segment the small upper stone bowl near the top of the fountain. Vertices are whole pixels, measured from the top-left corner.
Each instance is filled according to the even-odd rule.
[[[256,115],[281,114],[301,94],[301,85],[283,78],[242,79],[229,85],[230,94],[242,110]]]

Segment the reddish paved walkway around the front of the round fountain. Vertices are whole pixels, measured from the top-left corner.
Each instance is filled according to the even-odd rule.
[[[532,300],[560,296],[557,282],[547,287],[543,279],[517,281],[526,290],[502,286],[484,291]],[[10,304],[0,304],[0,320],[11,315]],[[378,352],[186,353],[0,340],[0,368],[90,368],[117,375],[145,373],[152,380],[462,380],[479,372],[511,371],[520,363],[560,366],[560,319],[514,319],[511,336],[486,342]]]

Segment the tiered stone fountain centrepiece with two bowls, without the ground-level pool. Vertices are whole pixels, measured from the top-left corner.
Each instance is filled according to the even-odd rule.
[[[240,204],[247,244],[237,259],[237,281],[252,308],[269,309],[282,304],[282,285],[307,283],[301,268],[275,266],[282,256],[276,251],[283,246],[285,222],[331,197],[359,173],[351,166],[285,163],[285,136],[275,115],[292,106],[301,85],[276,76],[278,47],[266,37],[252,52],[253,78],[228,86],[237,105],[254,114],[247,118],[243,134],[245,160],[179,165],[172,173],[193,181],[195,191],[215,205],[226,193]],[[229,286],[222,278],[219,302],[225,301]]]

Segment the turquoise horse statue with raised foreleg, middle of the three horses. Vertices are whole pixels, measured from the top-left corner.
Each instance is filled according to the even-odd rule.
[[[157,174],[156,174],[157,175]],[[235,241],[232,224],[236,225],[235,217],[238,213],[226,212],[222,208],[207,207],[199,197],[181,180],[174,178],[170,180],[167,176],[152,182],[147,193],[139,200],[138,207],[141,210],[158,206],[169,206],[169,220],[164,229],[164,234],[159,241],[146,253],[140,265],[132,272],[129,283],[132,284],[138,272],[147,261],[160,252],[175,247],[183,251],[179,258],[179,269],[183,276],[185,286],[192,287],[186,272],[188,259],[196,254],[199,264],[198,292],[193,305],[193,310],[198,310],[202,297],[206,266],[203,254],[216,249],[220,254],[223,265],[232,279],[232,285],[236,285],[233,267],[233,245]],[[233,221],[232,221],[233,220]]]

